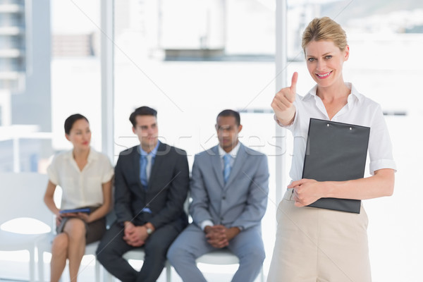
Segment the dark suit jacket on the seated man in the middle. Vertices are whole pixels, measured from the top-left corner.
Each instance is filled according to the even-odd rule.
[[[121,152],[116,164],[114,209],[118,223],[132,221],[138,226],[150,222],[155,228],[172,223],[184,228],[188,218],[183,204],[190,182],[186,152],[160,142],[145,189],[140,181],[139,147]],[[145,207],[152,213],[142,212]]]

